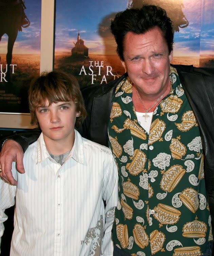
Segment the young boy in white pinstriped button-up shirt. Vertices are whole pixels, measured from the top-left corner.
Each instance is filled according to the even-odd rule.
[[[86,116],[77,80],[64,72],[31,82],[32,124],[42,131],[24,153],[18,185],[0,180],[0,236],[16,204],[11,255],[113,255],[118,171],[111,151],[74,129]],[[16,202],[15,202],[16,197]]]

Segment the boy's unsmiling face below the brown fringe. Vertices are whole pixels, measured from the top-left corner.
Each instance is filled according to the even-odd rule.
[[[56,141],[65,143],[65,146],[73,141],[74,125],[76,117],[80,112],[76,112],[73,101],[52,103],[50,106],[46,100],[43,106],[36,109],[36,117],[42,130],[44,141],[50,145]]]

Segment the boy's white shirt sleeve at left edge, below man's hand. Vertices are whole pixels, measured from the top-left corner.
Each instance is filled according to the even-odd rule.
[[[12,165],[12,173],[17,180],[17,171],[15,168],[15,162]],[[0,179],[0,244],[1,237],[4,233],[3,222],[7,220],[7,215],[4,213],[5,209],[15,205],[16,186],[10,185]],[[1,252],[0,252],[1,253]]]

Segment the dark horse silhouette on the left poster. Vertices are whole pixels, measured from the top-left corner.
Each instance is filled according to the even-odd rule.
[[[22,31],[22,27],[30,26],[30,21],[24,14],[24,9],[26,9],[26,7],[22,0],[0,0],[0,41],[2,35],[7,34],[8,36],[6,55],[7,81],[10,81],[10,64],[12,62],[13,46],[16,41],[18,31]]]

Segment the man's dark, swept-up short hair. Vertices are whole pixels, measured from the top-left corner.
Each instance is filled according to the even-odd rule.
[[[168,45],[169,54],[173,49],[172,21],[167,17],[166,11],[155,5],[144,5],[141,9],[126,9],[115,15],[111,21],[111,33],[117,43],[117,52],[124,61],[124,37],[128,32],[143,34],[158,27]]]

